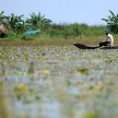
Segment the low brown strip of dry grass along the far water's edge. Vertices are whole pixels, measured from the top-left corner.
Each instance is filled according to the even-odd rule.
[[[104,37],[105,38],[105,37]],[[98,46],[105,39],[34,39],[34,40],[1,40],[0,46],[71,46],[73,43],[81,43],[90,46]],[[115,39],[118,45],[118,39]]]

